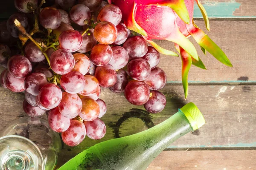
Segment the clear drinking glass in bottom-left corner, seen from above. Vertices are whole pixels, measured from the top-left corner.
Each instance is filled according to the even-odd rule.
[[[58,153],[61,150],[61,139],[59,134],[49,127],[48,121],[45,119],[29,116],[16,119],[3,130],[0,136],[3,136],[0,138],[0,144],[5,144],[3,146],[1,145],[0,153],[8,153],[9,157],[13,157],[9,158],[10,160],[14,160],[15,162],[15,155],[20,152],[24,153],[24,157],[21,156],[23,158],[26,157],[26,154],[29,155],[26,157],[28,161],[24,161],[29,168],[25,168],[24,170],[41,170],[39,167],[37,169],[33,165],[30,165],[31,162],[36,162],[36,160],[40,162],[41,158],[44,162],[44,166],[41,167],[42,170],[53,170],[57,164]],[[23,136],[26,140],[20,136]],[[13,142],[6,143],[9,140]],[[32,150],[26,152],[29,147]],[[12,150],[9,148],[12,148]],[[38,154],[38,149],[40,154]],[[0,154],[1,166],[4,163],[9,164],[9,159],[6,159],[3,154]],[[22,166],[22,164],[17,164],[11,170],[23,170]],[[1,168],[6,170],[6,168]]]

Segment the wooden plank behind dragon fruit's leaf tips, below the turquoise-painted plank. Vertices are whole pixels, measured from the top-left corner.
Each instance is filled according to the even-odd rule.
[[[205,28],[203,21],[195,21],[200,28]],[[207,32],[227,54],[233,68],[227,67],[209,53],[205,57],[199,45],[198,54],[207,70],[192,66],[189,71],[190,82],[256,82],[256,21],[210,21],[211,31]],[[205,29],[204,29],[205,30]],[[242,31],[241,31],[242,30]],[[157,41],[164,48],[175,51],[172,42]],[[179,57],[161,55],[160,68],[167,74],[169,82],[181,81],[181,60]],[[0,68],[2,71],[3,68]]]

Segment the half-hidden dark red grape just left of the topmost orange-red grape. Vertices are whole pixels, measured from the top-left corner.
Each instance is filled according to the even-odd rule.
[[[80,31],[80,34],[83,34],[84,31]],[[87,53],[91,51],[94,45],[97,44],[97,40],[93,36],[93,29],[87,31],[86,34],[83,35],[83,44],[81,48],[78,50],[79,53]]]

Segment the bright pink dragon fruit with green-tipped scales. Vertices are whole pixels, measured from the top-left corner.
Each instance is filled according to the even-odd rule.
[[[209,30],[207,13],[202,4],[198,0],[195,1]],[[201,46],[205,55],[208,51],[220,62],[232,67],[230,60],[221,48],[195,25],[193,20],[194,0],[108,0],[108,2],[121,9],[122,20],[127,28],[141,34],[160,53],[178,56],[177,53],[157,45],[153,39],[175,42],[175,48],[180,53],[182,61],[185,98],[188,95],[188,72],[191,65],[206,69],[198,57],[194,45],[187,37],[192,36]]]

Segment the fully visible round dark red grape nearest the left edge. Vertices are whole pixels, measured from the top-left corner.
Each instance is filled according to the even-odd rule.
[[[7,68],[13,77],[25,78],[32,71],[32,64],[22,55],[12,56],[7,63]]]

